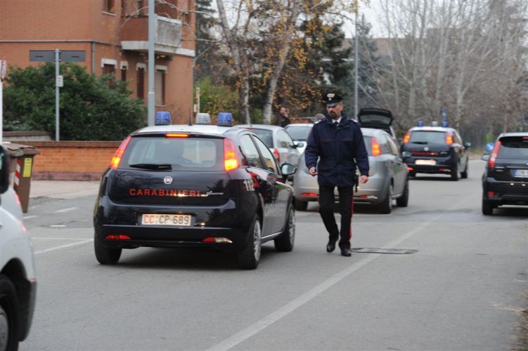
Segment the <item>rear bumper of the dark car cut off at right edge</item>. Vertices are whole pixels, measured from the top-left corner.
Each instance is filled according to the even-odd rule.
[[[486,178],[482,190],[484,199],[497,205],[528,206],[528,181],[506,182]]]

